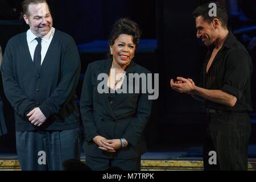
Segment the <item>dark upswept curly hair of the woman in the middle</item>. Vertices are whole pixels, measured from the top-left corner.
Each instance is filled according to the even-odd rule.
[[[113,46],[115,39],[117,39],[121,34],[133,36],[133,43],[136,45],[136,47],[138,46],[139,39],[141,38],[141,30],[139,29],[137,23],[128,18],[121,18],[117,20],[109,36],[109,46]]]

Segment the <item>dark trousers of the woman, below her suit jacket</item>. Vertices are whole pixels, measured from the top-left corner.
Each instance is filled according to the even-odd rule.
[[[93,171],[140,171],[141,156],[134,159],[106,159],[85,155],[85,164]]]

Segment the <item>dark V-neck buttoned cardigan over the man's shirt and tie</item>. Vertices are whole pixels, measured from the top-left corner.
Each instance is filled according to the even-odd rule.
[[[1,66],[3,87],[15,111],[16,131],[67,130],[79,127],[75,89],[80,75],[76,43],[55,31],[40,71],[31,59],[26,32],[9,40]],[[39,107],[47,120],[35,127],[26,115]]]

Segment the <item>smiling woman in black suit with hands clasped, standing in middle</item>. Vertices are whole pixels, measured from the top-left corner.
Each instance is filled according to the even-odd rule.
[[[134,84],[136,78],[130,76],[150,73],[132,61],[140,36],[137,23],[119,19],[110,34],[111,58],[94,61],[86,70],[80,110],[85,160],[93,170],[141,169],[141,155],[146,151],[143,129],[152,101],[148,92],[142,92],[146,81]],[[139,92],[134,92],[136,89]]]

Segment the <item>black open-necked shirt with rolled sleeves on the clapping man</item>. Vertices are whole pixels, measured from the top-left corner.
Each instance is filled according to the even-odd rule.
[[[237,97],[237,102],[234,107],[230,107],[205,100],[205,106],[209,109],[251,111],[250,80],[253,64],[246,48],[229,31],[222,48],[206,72],[213,48],[214,45],[209,47],[206,61],[203,64],[201,86],[205,89],[222,90],[232,94]]]

